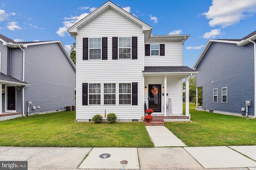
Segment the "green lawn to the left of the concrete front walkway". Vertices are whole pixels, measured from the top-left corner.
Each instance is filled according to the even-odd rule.
[[[0,122],[0,146],[154,147],[144,123],[74,122],[75,112],[20,117]]]

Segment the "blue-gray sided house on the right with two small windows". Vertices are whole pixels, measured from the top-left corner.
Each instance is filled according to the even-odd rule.
[[[202,88],[202,106],[196,109],[256,118],[255,41],[256,31],[242,39],[208,41],[193,66],[196,88]]]

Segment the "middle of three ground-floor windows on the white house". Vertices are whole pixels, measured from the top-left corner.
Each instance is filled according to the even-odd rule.
[[[115,83],[104,83],[104,104],[116,104]]]

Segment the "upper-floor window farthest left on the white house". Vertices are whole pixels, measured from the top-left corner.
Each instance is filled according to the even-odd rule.
[[[101,38],[89,39],[89,59],[101,59]]]

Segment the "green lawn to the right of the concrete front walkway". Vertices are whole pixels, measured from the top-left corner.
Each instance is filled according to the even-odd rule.
[[[165,124],[187,146],[256,145],[256,119],[196,111],[192,103],[190,114],[197,123]]]

